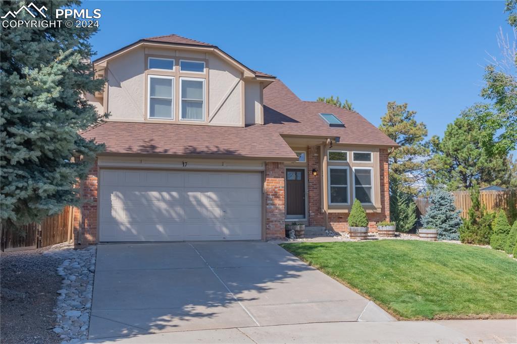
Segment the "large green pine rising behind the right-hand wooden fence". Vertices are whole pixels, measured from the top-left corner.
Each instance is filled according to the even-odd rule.
[[[444,138],[431,139],[433,157],[427,162],[431,186],[446,185],[449,191],[470,189],[477,184],[509,184],[509,161],[500,155],[487,154],[481,147],[480,125],[470,119],[473,112],[486,111],[475,105],[448,124]]]

